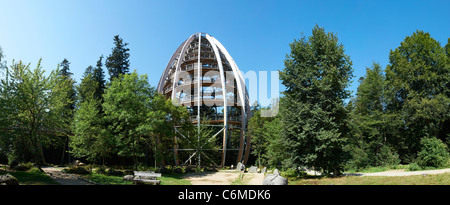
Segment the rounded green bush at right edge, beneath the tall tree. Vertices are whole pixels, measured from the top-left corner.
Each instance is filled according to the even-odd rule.
[[[422,167],[444,167],[450,158],[447,145],[436,137],[420,140],[422,150],[417,154],[417,163]]]

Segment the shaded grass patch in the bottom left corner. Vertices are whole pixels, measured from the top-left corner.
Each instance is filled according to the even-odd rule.
[[[11,174],[19,180],[20,185],[55,185],[58,184],[53,181],[52,178],[47,176],[43,172],[39,171],[16,171],[16,172],[5,172],[0,171],[0,175],[2,174]]]

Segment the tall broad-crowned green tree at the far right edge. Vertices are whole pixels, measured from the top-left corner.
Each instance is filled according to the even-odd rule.
[[[389,53],[386,108],[403,122],[393,141],[405,161],[419,152],[423,136],[447,137],[449,77],[446,50],[429,33],[416,31]]]

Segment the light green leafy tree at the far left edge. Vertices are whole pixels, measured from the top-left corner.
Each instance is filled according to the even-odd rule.
[[[72,110],[72,81],[60,75],[59,69],[48,76],[39,60],[34,70],[22,62],[14,63],[2,81],[5,101],[4,120],[11,140],[10,156],[19,161],[33,158],[37,165],[45,162],[43,147],[57,143],[55,135],[66,135]]]

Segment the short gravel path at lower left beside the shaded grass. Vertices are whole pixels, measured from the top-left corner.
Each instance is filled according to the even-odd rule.
[[[75,174],[67,174],[62,172],[64,167],[42,167],[45,174],[61,185],[93,185]]]

